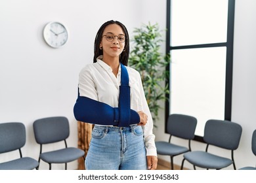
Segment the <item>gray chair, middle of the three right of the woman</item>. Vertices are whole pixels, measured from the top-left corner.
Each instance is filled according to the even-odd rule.
[[[239,124],[226,120],[208,120],[205,124],[203,141],[207,143],[205,151],[192,151],[185,153],[184,160],[192,163],[194,169],[223,169],[229,165],[234,166],[234,150],[238,148],[242,135],[242,127]],[[209,145],[230,150],[231,158],[224,158],[217,154],[209,153]],[[183,169],[184,160],[181,169]]]

